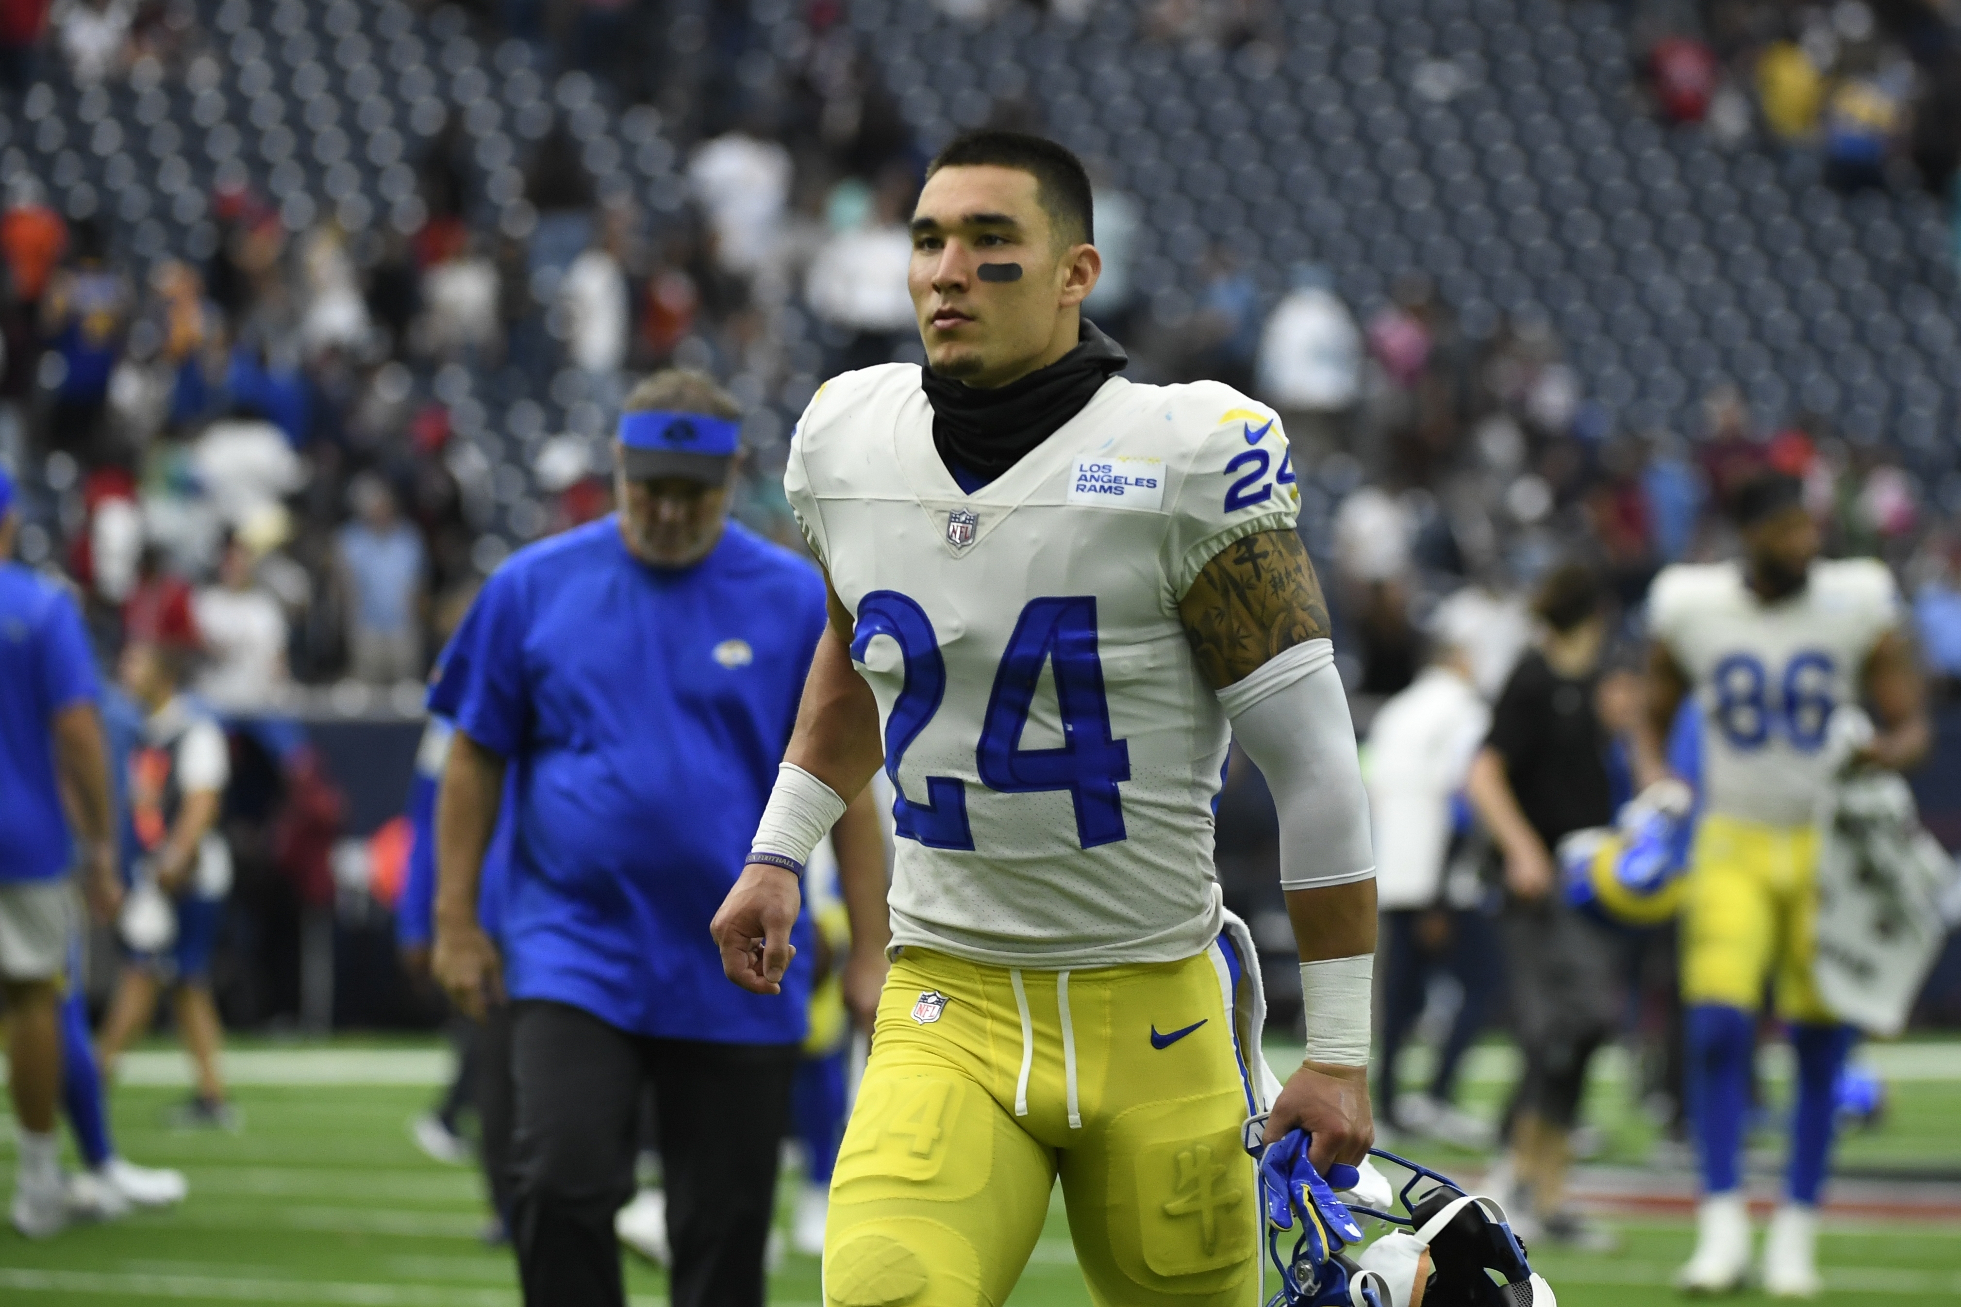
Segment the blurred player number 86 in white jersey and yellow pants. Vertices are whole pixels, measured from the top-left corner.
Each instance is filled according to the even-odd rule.
[[[1851,1031],[1812,982],[1814,813],[1847,762],[1843,741],[1871,766],[1908,768],[1926,752],[1930,727],[1886,564],[1822,560],[1818,525],[1790,476],[1759,474],[1737,490],[1732,509],[1743,558],[1671,566],[1647,602],[1643,770],[1659,774],[1657,741],[1667,739],[1683,698],[1694,694],[1702,707],[1702,823],[1681,956],[1704,1199],[1696,1250],[1677,1282],[1716,1293],[1749,1274],[1737,1162],[1755,1013],[1769,988],[1790,1023],[1798,1101],[1786,1199],[1771,1221],[1761,1280],[1777,1297],[1810,1297],[1820,1287],[1816,1213],[1832,1150],[1832,1086],[1851,1046]],[[1853,727],[1861,702],[1877,731]]]

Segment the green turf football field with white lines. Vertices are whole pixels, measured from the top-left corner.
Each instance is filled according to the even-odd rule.
[[[1961,1176],[1961,1046],[1937,1054],[1926,1074],[1892,1084],[1888,1121],[1847,1142],[1845,1160],[1865,1168],[1912,1168]],[[143,1054],[131,1080],[171,1082],[173,1056]],[[1912,1062],[1912,1058],[1908,1058]],[[478,1240],[484,1209],[473,1172],[424,1158],[406,1123],[427,1105],[426,1082],[441,1060],[427,1048],[333,1046],[241,1050],[237,1089],[245,1123],[237,1135],[178,1133],[163,1115],[182,1089],[126,1084],[116,1093],[124,1154],[178,1166],[190,1201],[106,1227],[80,1227],[31,1244],[0,1233],[0,1303],[345,1303],[359,1307],[514,1305],[508,1250]],[[351,1068],[351,1070],[349,1070]],[[1471,1097],[1502,1088],[1500,1050],[1473,1066]],[[1957,1066],[1961,1070],[1961,1066]],[[159,1074],[161,1072],[161,1074]],[[353,1082],[353,1084],[349,1084]],[[394,1082],[394,1084],[390,1084]],[[1637,1168],[1651,1131],[1632,1111],[1618,1076],[1594,1086],[1604,1121],[1604,1164]],[[12,1131],[0,1131],[10,1140]],[[1471,1154],[1424,1148],[1424,1160],[1475,1170]],[[0,1142],[0,1193],[12,1193],[12,1144]],[[788,1193],[788,1189],[786,1189]],[[1837,1221],[1824,1242],[1830,1301],[1847,1307],[1910,1307],[1961,1301],[1961,1221],[1949,1203],[1934,1221]],[[1688,1248],[1683,1217],[1612,1221],[1624,1248],[1612,1256],[1535,1256],[1563,1307],[1634,1307],[1675,1301],[1667,1278]],[[663,1278],[629,1258],[635,1303],[661,1303]],[[788,1256],[773,1278],[773,1303],[818,1303],[818,1268]],[[1035,1248],[1014,1307],[1088,1303],[1059,1203]],[[1737,1301],[1757,1301],[1745,1295]]]

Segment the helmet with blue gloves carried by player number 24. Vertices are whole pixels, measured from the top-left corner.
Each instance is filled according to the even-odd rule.
[[[1492,1199],[1371,1148],[1371,1156],[1410,1172],[1400,1193],[1408,1215],[1390,1211],[1394,1203],[1351,1207],[1308,1162],[1306,1133],[1290,1131],[1269,1146],[1253,1129],[1263,1125],[1259,1117],[1247,1123],[1247,1152],[1259,1160],[1267,1254],[1281,1272],[1281,1291],[1267,1307],[1557,1307]],[[1349,1186],[1355,1176],[1333,1180]],[[1426,1182],[1430,1187],[1416,1193]],[[1357,1213],[1398,1229],[1361,1248]],[[1290,1250],[1286,1233],[1294,1233]]]

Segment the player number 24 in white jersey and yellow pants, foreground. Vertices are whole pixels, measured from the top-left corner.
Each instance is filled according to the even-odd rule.
[[[1322,1172],[1373,1138],[1369,817],[1286,439],[1228,386],[1114,376],[1059,145],[955,141],[912,235],[930,366],[833,378],[792,439],[831,629],[714,927],[729,978],[775,992],[824,813],[882,762],[894,964],[826,1303],[1006,1299],[1061,1178],[1096,1303],[1251,1305],[1241,1123],[1271,1105]],[[1284,1089],[1212,870],[1230,737],[1281,813],[1308,1029]]]

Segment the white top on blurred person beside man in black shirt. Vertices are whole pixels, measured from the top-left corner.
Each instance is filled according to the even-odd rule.
[[[1375,894],[1383,909],[1430,907],[1451,847],[1451,796],[1471,770],[1490,707],[1451,668],[1426,668],[1390,696],[1363,754],[1375,829]]]

